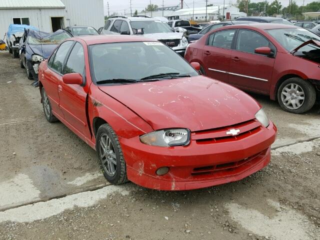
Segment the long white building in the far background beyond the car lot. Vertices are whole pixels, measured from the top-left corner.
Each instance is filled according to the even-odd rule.
[[[230,19],[232,13],[238,12],[239,8],[230,5],[224,5],[224,18]],[[206,12],[206,13],[205,13]],[[216,20],[218,17],[223,16],[223,5],[208,6],[207,9],[204,7],[194,8],[182,8],[165,15],[169,20],[173,19],[184,19],[194,21],[205,21]]]

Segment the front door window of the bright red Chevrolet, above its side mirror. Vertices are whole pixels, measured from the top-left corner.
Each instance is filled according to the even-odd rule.
[[[63,69],[63,74],[77,72],[83,74],[84,72],[84,51],[79,42],[76,42],[70,52]]]

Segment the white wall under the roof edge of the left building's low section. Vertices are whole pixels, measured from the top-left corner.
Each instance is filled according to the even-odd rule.
[[[13,17],[29,17],[30,25],[39,27],[41,31],[51,32],[51,16],[64,16],[63,8],[45,9],[0,9],[0,38],[3,38]],[[64,17],[65,18],[65,17]],[[38,23],[38,20],[39,23]]]

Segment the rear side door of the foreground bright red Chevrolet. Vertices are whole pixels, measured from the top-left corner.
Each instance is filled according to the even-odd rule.
[[[63,42],[57,50],[48,59],[47,67],[42,72],[43,87],[50,100],[52,111],[63,118],[62,110],[59,106],[58,85],[62,82],[62,65],[64,58],[72,46],[73,41]]]

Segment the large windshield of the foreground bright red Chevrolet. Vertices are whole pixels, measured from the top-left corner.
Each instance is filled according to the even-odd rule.
[[[198,73],[161,42],[120,42],[89,46],[90,65],[96,82],[112,79],[141,80],[152,75]]]

